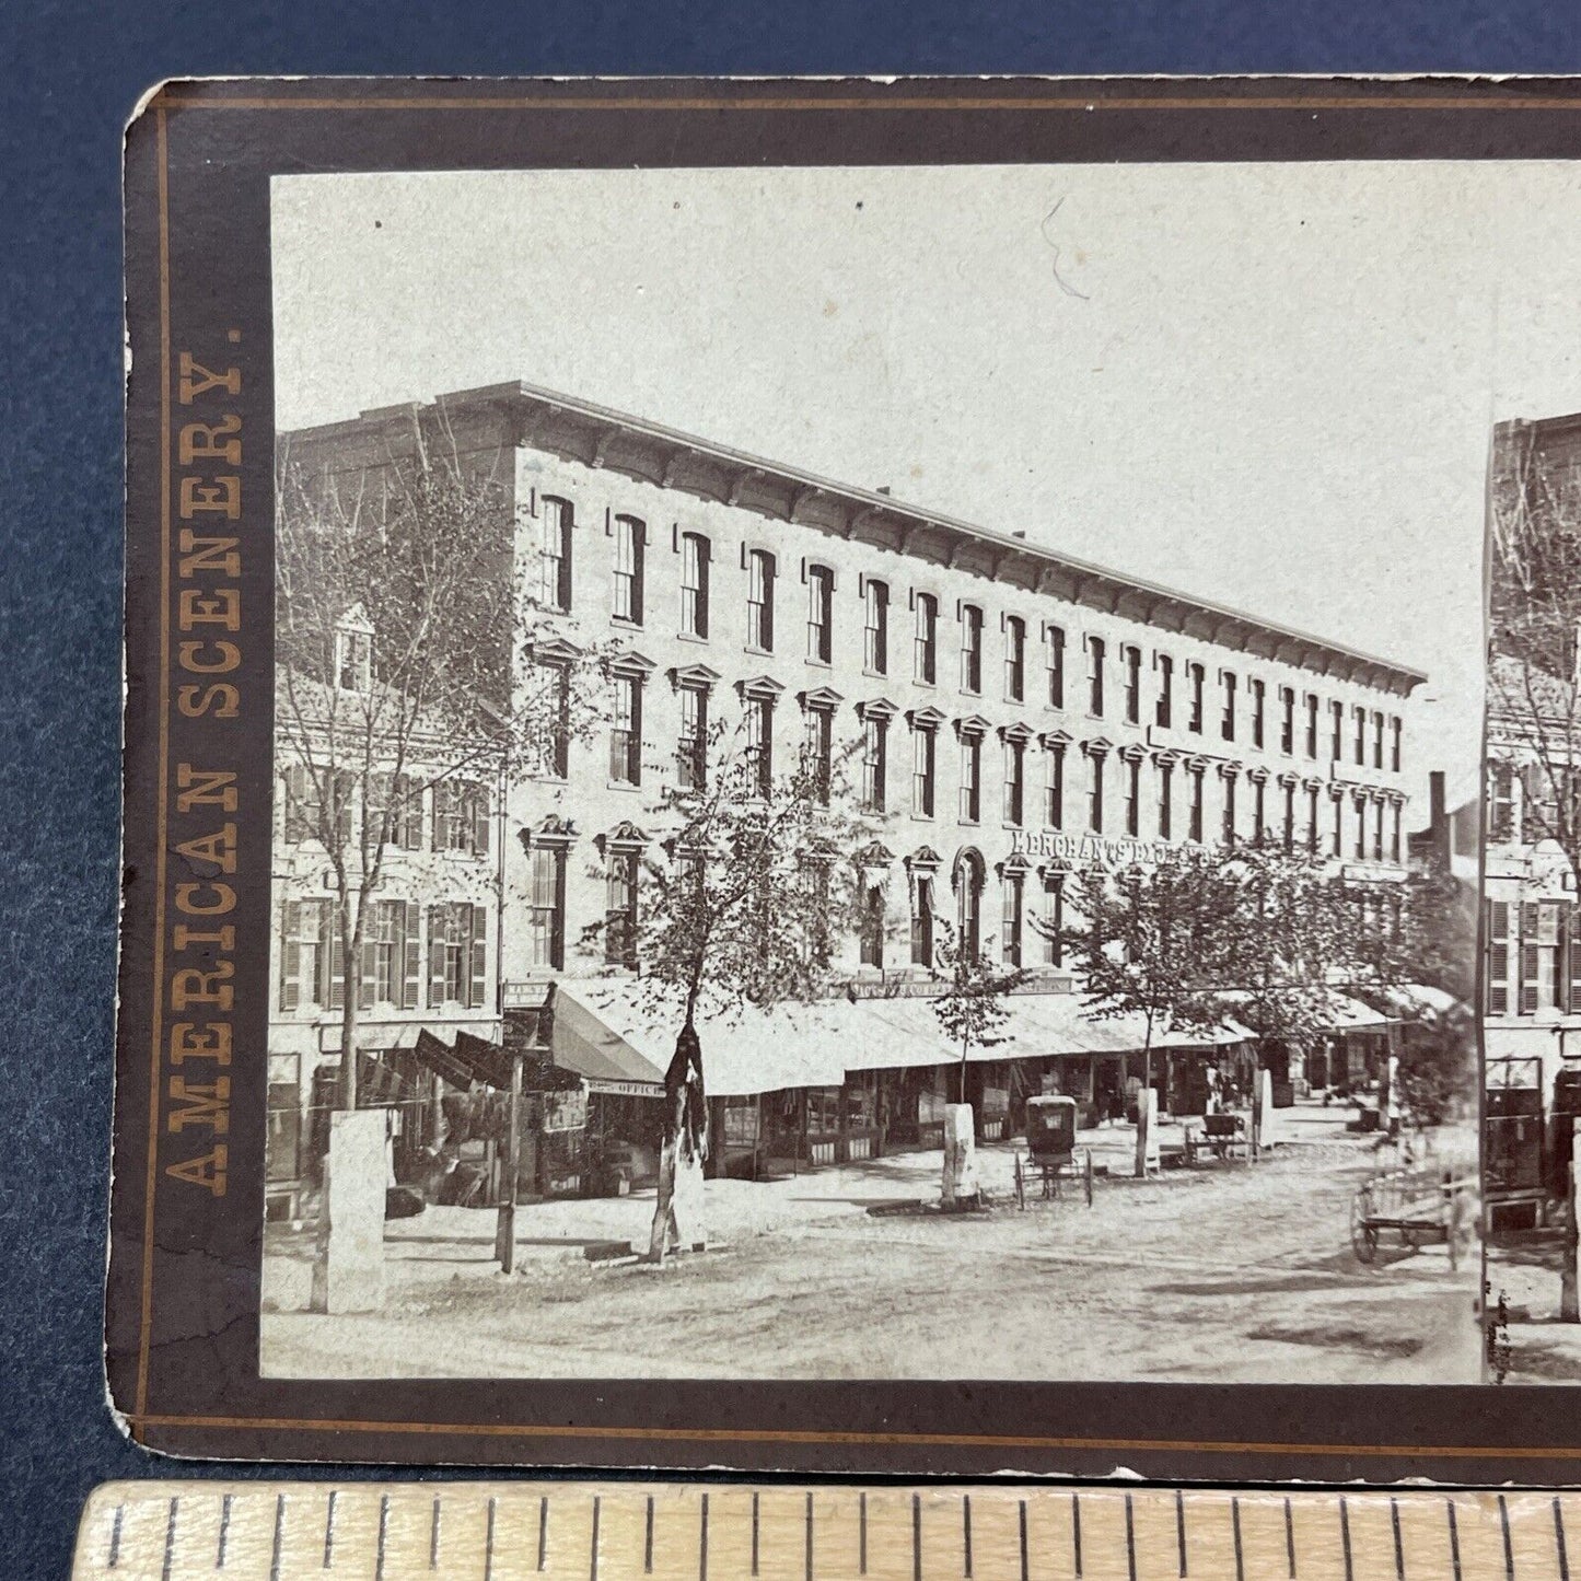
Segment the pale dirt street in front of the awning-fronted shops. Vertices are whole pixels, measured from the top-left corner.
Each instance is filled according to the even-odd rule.
[[[727,1244],[664,1270],[582,1260],[545,1205],[520,1211],[528,1255],[506,1277],[489,1265],[493,1214],[466,1214],[463,1233],[430,1209],[392,1227],[386,1311],[357,1317],[305,1311],[310,1240],[272,1228],[264,1371],[1477,1382],[1475,1255],[1458,1271],[1442,1246],[1358,1263],[1349,1209],[1372,1146],[1311,1135],[1255,1165],[1102,1179],[1092,1208],[1067,1186],[1018,1211],[1009,1148],[985,1149],[1001,1189],[979,1214],[893,1211],[936,1195],[938,1154],[838,1172],[833,1190],[825,1175],[711,1183],[726,1221],[753,1192],[778,1192],[776,1217],[751,1233],[737,1209]],[[651,1198],[618,1209],[640,1232]]]

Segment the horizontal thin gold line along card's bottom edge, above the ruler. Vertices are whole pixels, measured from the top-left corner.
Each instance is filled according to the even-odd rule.
[[[508,1380],[495,1380],[508,1382]],[[1434,1385],[1415,1385],[1432,1388]],[[1481,1388],[1485,1385],[1464,1385]],[[1183,1450],[1197,1455],[1366,1455],[1366,1456],[1443,1456],[1445,1459],[1576,1459],[1581,1445],[1534,1448],[1510,1445],[1489,1448],[1466,1443],[1233,1443],[1198,1439],[1056,1439],[1036,1434],[1004,1432],[855,1432],[855,1431],[776,1431],[773,1428],[602,1428],[577,1424],[526,1423],[511,1426],[500,1421],[435,1423],[435,1421],[365,1421],[365,1420],[304,1420],[297,1417],[164,1417],[136,1415],[131,1420],[139,1428],[251,1428],[262,1431],[304,1429],[313,1432],[395,1432],[417,1437],[489,1437],[489,1439],[658,1439],[661,1442],[702,1443],[919,1443],[939,1448],[994,1448],[994,1450]]]

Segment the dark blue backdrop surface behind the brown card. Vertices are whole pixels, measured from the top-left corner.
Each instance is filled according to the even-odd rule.
[[[1581,71],[1581,5],[16,0],[0,63],[0,1564],[8,1576],[63,1576],[95,1483],[256,1475],[136,1450],[104,1407],[100,1363],[120,795],[120,133],[139,93],[174,74],[300,71],[1548,74]]]

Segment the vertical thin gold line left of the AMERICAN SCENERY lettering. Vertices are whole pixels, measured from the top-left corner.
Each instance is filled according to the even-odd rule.
[[[153,1013],[149,1039],[147,1205],[142,1217],[142,1315],[138,1333],[138,1410],[149,1404],[153,1339],[153,1203],[160,1181],[160,1043],[164,1036],[164,844],[171,751],[171,190],[164,108],[155,111],[160,179],[160,749],[153,843]]]

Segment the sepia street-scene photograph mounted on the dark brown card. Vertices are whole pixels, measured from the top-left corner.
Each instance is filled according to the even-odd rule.
[[[275,175],[264,1377],[1581,1379],[1578,236]]]

